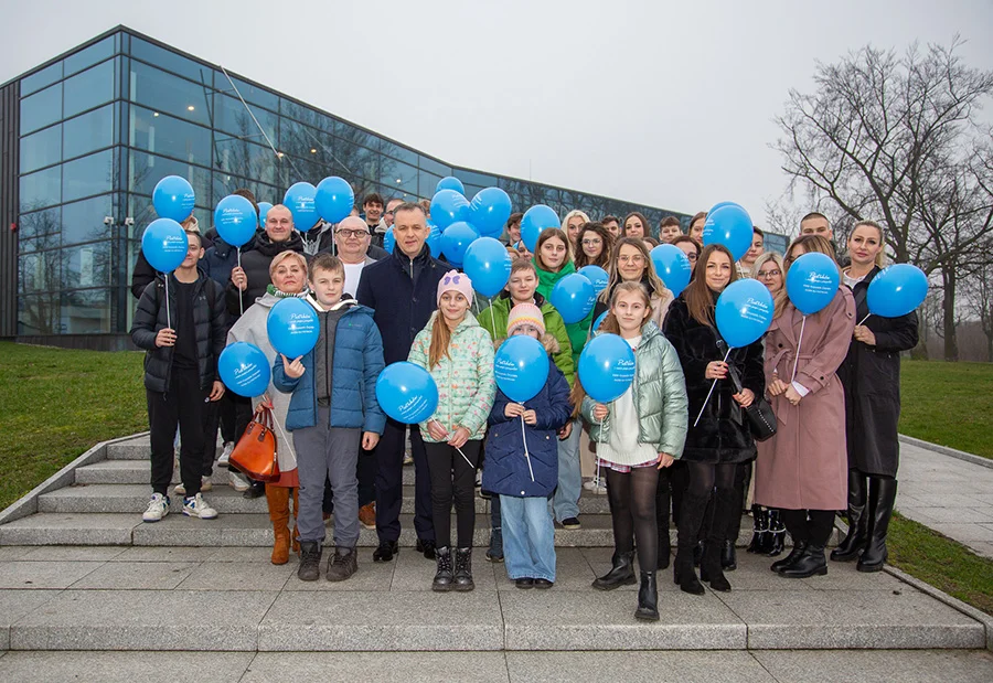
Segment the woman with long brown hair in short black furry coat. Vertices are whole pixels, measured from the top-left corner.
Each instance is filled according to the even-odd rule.
[[[682,457],[690,469],[690,488],[677,522],[674,578],[682,590],[695,595],[703,595],[704,589],[693,569],[693,548],[715,485],[714,520],[707,533],[701,577],[714,590],[730,590],[720,565],[720,551],[732,515],[741,514],[735,494],[735,470],[739,462],[756,456],[755,440],[741,408],[766,391],[760,340],[734,349],[728,362],[723,360],[727,348],[720,346],[724,341],[715,327],[714,308],[720,292],[736,278],[735,260],[727,248],[719,244],[704,248],[693,281],[670,306],[663,327],[683,365],[690,398],[690,431]],[[745,388],[740,394],[735,393],[728,378],[729,367],[741,377]]]

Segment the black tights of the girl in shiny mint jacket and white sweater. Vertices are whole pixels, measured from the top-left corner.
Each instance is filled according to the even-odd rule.
[[[637,467],[630,472],[607,470],[615,548],[618,554],[630,553],[637,542],[638,565],[642,572],[654,572],[659,563],[658,487],[659,470],[654,466]]]

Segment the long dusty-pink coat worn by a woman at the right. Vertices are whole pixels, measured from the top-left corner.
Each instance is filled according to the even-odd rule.
[[[766,385],[789,383],[803,313],[787,302],[766,337]],[[855,300],[840,287],[831,303],[807,317],[796,381],[810,389],[798,405],[771,398],[776,436],[758,444],[755,502],[786,510],[843,510],[847,505],[845,393],[834,374],[855,329]]]

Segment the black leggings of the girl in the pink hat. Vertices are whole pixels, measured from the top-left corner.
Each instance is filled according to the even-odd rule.
[[[431,517],[435,522],[435,542],[438,547],[451,545],[451,502],[456,506],[456,533],[458,546],[472,547],[476,531],[476,468],[482,441],[466,441],[462,452],[448,444],[424,442],[428,469],[431,474]]]

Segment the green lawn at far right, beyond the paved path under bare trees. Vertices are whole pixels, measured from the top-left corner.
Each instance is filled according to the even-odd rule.
[[[904,361],[900,434],[993,458],[993,363]]]

